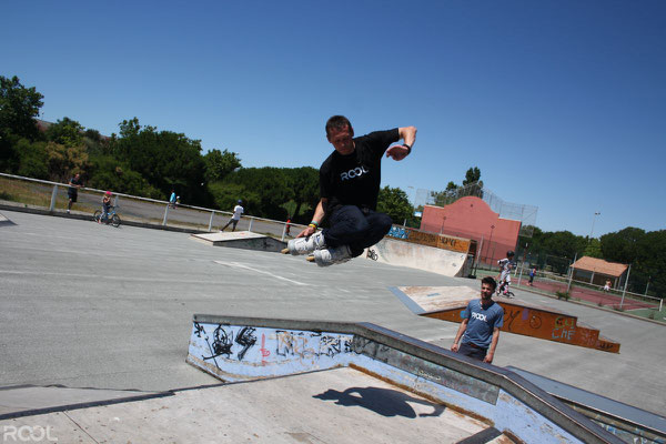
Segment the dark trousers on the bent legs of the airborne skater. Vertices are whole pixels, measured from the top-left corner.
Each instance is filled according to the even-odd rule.
[[[331,228],[324,230],[326,245],[336,248],[349,245],[352,258],[363,253],[386,235],[391,230],[391,218],[386,214],[370,211],[365,214],[356,205],[344,205],[331,216]]]

